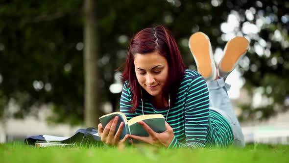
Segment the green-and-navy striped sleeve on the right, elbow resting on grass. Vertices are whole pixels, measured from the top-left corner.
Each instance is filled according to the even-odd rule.
[[[185,142],[178,142],[176,136],[168,148],[202,148],[206,145],[209,123],[209,91],[204,78],[197,75],[189,83],[185,99]]]

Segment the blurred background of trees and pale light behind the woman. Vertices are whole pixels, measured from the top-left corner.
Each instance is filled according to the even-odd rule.
[[[246,37],[227,79],[245,139],[289,144],[286,0],[0,0],[0,142],[97,127],[119,110],[116,69],[131,37],[160,24],[193,70],[194,32],[210,37],[216,62],[228,40]]]

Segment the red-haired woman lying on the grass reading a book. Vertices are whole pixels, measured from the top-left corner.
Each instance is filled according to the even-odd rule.
[[[122,73],[120,111],[128,120],[142,114],[163,114],[166,131],[155,133],[140,122],[148,137],[126,135],[120,140],[124,124],[116,129],[115,117],[105,129],[98,125],[103,142],[123,145],[127,138],[133,138],[167,148],[244,146],[241,127],[227,95],[229,85],[222,76],[234,69],[248,48],[248,41],[237,37],[228,42],[218,66],[222,76],[217,75],[211,44],[204,33],[193,34],[189,47],[198,72],[185,69],[177,44],[165,27],[145,28],[133,37]]]

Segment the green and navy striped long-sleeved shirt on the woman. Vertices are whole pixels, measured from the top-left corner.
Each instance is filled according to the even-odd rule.
[[[135,112],[130,112],[132,97],[129,83],[126,81],[121,93],[120,111],[126,115],[127,120],[143,115],[141,103]],[[169,108],[156,109],[151,100],[143,100],[144,114],[167,116]],[[193,70],[186,70],[178,88],[176,102],[170,106],[167,122],[174,133],[169,148],[224,147],[233,142],[229,122],[220,113],[210,109],[206,81]]]

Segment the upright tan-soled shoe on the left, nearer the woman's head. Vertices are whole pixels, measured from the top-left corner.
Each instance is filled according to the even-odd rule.
[[[189,39],[189,48],[193,54],[198,72],[207,81],[215,80],[217,69],[209,37],[203,32],[194,33]]]

